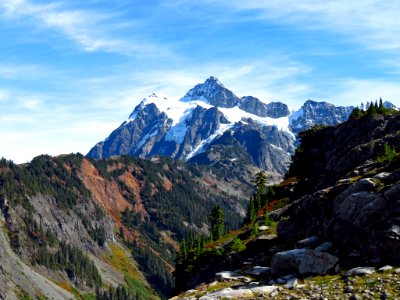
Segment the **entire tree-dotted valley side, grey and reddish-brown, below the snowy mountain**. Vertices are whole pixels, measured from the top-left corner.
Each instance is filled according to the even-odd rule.
[[[242,185],[171,158],[2,159],[0,295],[65,299],[99,290],[111,297],[115,290],[104,286],[124,286],[139,299],[157,298],[155,290],[165,297],[178,241],[207,234],[216,203],[226,225],[238,227]]]

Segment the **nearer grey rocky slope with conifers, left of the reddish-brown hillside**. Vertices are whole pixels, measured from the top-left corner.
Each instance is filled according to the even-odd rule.
[[[71,299],[103,285],[126,286],[131,295],[156,299],[120,239],[116,224],[79,178],[83,157],[40,156],[30,164],[0,162],[2,297]],[[110,260],[118,252],[130,274]]]

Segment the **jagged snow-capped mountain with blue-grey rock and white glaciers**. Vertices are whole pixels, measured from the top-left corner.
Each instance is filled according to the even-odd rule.
[[[241,163],[283,175],[296,133],[315,124],[343,122],[351,111],[352,107],[307,101],[290,113],[281,102],[239,98],[210,77],[180,100],[156,94],[144,98],[88,156],[162,155],[201,164]]]

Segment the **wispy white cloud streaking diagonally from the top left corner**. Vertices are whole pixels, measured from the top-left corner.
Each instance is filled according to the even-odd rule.
[[[169,55],[160,45],[143,38],[120,36],[115,31],[133,23],[118,21],[118,15],[92,10],[68,9],[60,2],[38,4],[32,0],[2,0],[3,17],[55,30],[87,52],[106,51],[125,55]]]

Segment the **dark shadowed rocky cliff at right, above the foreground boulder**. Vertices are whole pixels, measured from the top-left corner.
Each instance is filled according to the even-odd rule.
[[[289,219],[281,222],[280,235],[317,235],[334,242],[343,257],[357,252],[398,262],[399,130],[394,114],[304,132],[288,175],[300,179],[298,200],[282,212]]]

